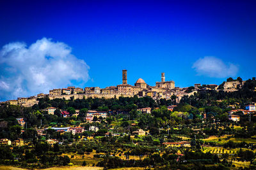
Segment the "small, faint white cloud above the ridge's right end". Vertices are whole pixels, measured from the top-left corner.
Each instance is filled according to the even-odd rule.
[[[205,75],[215,78],[226,78],[236,76],[238,67],[232,63],[225,64],[221,59],[216,57],[204,57],[196,60],[192,68],[198,75]]]

